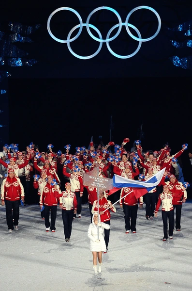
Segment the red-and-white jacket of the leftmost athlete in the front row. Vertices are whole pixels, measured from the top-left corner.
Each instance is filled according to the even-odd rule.
[[[19,178],[9,176],[2,181],[1,200],[16,201],[24,198],[24,189]]]

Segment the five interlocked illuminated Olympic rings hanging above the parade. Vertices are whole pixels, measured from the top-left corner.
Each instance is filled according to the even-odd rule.
[[[114,25],[114,26],[109,30],[109,32],[107,33],[107,38],[106,38],[106,39],[103,39],[101,32],[100,32],[100,31],[99,31],[99,30],[98,30],[94,25],[89,24],[90,17],[91,17],[91,16],[92,16],[96,11],[98,11],[98,10],[102,10],[102,9],[106,9],[106,10],[112,11],[112,12],[113,12],[117,17],[118,17],[118,22],[119,22],[118,24]],[[129,20],[130,16],[132,15],[132,13],[135,12],[136,10],[139,10],[139,9],[148,9],[148,10],[152,11],[152,12],[157,16],[157,19],[158,19],[158,28],[157,28],[157,31],[155,32],[155,34],[152,35],[151,37],[148,37],[148,38],[141,38],[141,33],[138,31],[138,29],[137,29],[135,26],[133,26],[132,24],[128,23],[128,20]],[[54,14],[56,14],[58,11],[61,11],[61,10],[68,10],[68,11],[71,11],[71,12],[73,12],[73,13],[74,13],[78,18],[79,18],[79,24],[76,25],[76,26],[74,26],[74,28],[69,32],[69,34],[68,34],[68,36],[67,36],[67,40],[63,40],[63,39],[59,39],[59,38],[55,37],[55,35],[54,35],[54,34],[51,32],[51,30],[50,30],[50,21],[51,21],[52,16],[54,16]],[[84,57],[84,56],[79,56],[79,55],[77,55],[76,53],[74,53],[74,51],[71,49],[71,46],[70,46],[70,42],[74,41],[75,39],[77,39],[77,37],[79,37],[79,35],[81,34],[82,29],[83,29],[84,26],[86,26],[89,35],[90,35],[94,40],[96,40],[96,41],[98,41],[98,42],[100,43],[100,44],[99,44],[99,48],[97,49],[97,51],[96,51],[95,53],[93,53],[93,54],[90,55],[90,56],[85,56],[85,57]],[[118,37],[119,33],[121,32],[121,28],[122,28],[122,26],[125,26],[125,28],[126,28],[128,34],[129,34],[129,35],[130,35],[134,40],[136,40],[136,41],[139,42],[137,49],[136,49],[132,54],[127,55],[127,56],[121,56],[121,55],[116,54],[116,53],[115,53],[115,52],[110,48],[110,46],[109,46],[109,42],[112,41],[112,40],[114,40],[116,37]],[[111,32],[112,32],[115,28],[117,28],[117,27],[118,27],[118,32],[117,32],[113,37],[110,38],[110,34],[111,34]],[[130,32],[129,27],[131,27],[131,28],[133,28],[133,29],[135,30],[135,32],[137,33],[138,37],[134,36],[134,35]],[[79,28],[79,31],[77,32],[77,34],[76,34],[73,38],[70,38],[70,36],[72,35],[72,33],[73,33],[77,28]],[[98,33],[99,38],[96,37],[96,36],[94,36],[94,35],[90,32],[90,28],[94,29],[94,30]],[[104,42],[106,43],[107,49],[108,49],[108,50],[110,51],[110,53],[111,53],[112,55],[114,55],[115,57],[120,58],[120,59],[128,59],[128,58],[131,58],[131,57],[133,57],[133,56],[134,56],[134,55],[139,51],[139,49],[141,48],[141,44],[142,44],[142,42],[147,42],[147,41],[152,40],[153,38],[155,38],[155,37],[158,35],[158,33],[160,32],[160,29],[161,29],[161,18],[160,18],[160,16],[159,16],[159,14],[157,13],[157,11],[154,10],[153,8],[149,7],[149,6],[138,6],[138,7],[134,8],[134,9],[132,9],[132,11],[130,11],[130,13],[129,13],[128,16],[126,17],[125,23],[122,23],[122,21],[121,21],[121,17],[119,16],[118,12],[117,12],[115,9],[110,8],[110,7],[107,7],[107,6],[98,7],[98,8],[96,8],[96,9],[94,9],[94,10],[89,14],[86,23],[83,23],[81,16],[79,15],[79,13],[78,13],[76,10],[74,10],[73,8],[69,8],[69,7],[60,7],[60,8],[58,8],[58,9],[56,9],[55,11],[53,11],[53,12],[50,14],[50,16],[49,16],[49,18],[48,18],[48,20],[47,20],[47,30],[48,30],[50,36],[51,36],[54,40],[56,40],[56,41],[58,41],[58,42],[60,42],[60,43],[66,43],[67,46],[68,46],[69,51],[70,51],[70,52],[71,52],[71,53],[72,53],[76,58],[79,58],[79,59],[82,59],[82,60],[88,60],[88,59],[91,59],[91,58],[95,57],[95,56],[100,52],[100,50],[102,49],[102,46],[103,46],[103,43],[104,43]]]

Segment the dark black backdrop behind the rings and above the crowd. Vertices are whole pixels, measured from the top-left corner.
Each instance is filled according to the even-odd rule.
[[[125,60],[111,55],[105,44],[96,57],[77,59],[69,52],[67,44],[56,42],[47,32],[48,16],[59,7],[74,8],[85,23],[93,9],[104,5],[116,9],[123,22],[133,8],[140,5],[153,7],[162,19],[161,31],[152,41],[143,43],[133,58]],[[189,150],[184,152],[182,162],[185,180],[190,182],[192,71],[174,66],[169,58],[192,55],[189,47],[176,49],[171,45],[171,40],[182,42],[192,37],[168,28],[192,20],[191,1],[74,0],[36,1],[23,5],[9,2],[0,6],[0,29],[3,31],[9,21],[26,26],[41,24],[38,30],[28,35],[33,43],[15,43],[29,53],[27,58],[38,63],[30,67],[3,67],[11,73],[7,85],[7,143],[18,143],[22,150],[33,141],[41,151],[49,143],[55,150],[64,150],[66,144],[71,144],[74,152],[75,146],[87,147],[91,136],[97,143],[102,135],[103,142],[108,143],[112,116],[112,140],[120,144],[129,137],[127,150],[131,149],[135,139],[140,138],[142,124],[144,150],[159,150],[168,141],[174,154],[183,143],[188,143]],[[95,13],[90,22],[105,38],[118,20],[112,12],[102,10]],[[129,22],[144,38],[155,33],[158,23],[156,16],[146,9],[134,12]],[[52,17],[51,30],[57,37],[66,39],[78,23],[73,13],[59,12]],[[127,55],[136,49],[137,42],[123,27],[110,45],[116,53]],[[98,43],[83,28],[71,47],[80,55],[89,55],[96,51]]]

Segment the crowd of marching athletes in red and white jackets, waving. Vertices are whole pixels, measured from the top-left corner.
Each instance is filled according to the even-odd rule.
[[[12,232],[14,228],[18,230],[20,203],[24,206],[40,205],[46,231],[55,232],[58,204],[62,209],[63,224],[67,222],[71,225],[74,218],[81,218],[82,203],[89,203],[92,219],[98,207],[95,204],[97,190],[83,184],[83,174],[96,167],[99,167],[101,177],[113,178],[116,174],[143,181],[165,168],[161,184],[139,200],[134,196],[132,188],[122,188],[120,192],[112,195],[108,191],[104,193],[104,202],[99,204],[99,210],[102,213],[101,221],[110,222],[109,210],[116,211],[112,203],[120,198],[119,204],[124,211],[126,233],[136,233],[138,204],[142,207],[145,203],[146,219],[153,219],[159,207],[159,204],[157,205],[159,195],[163,193],[162,187],[167,185],[169,193],[173,194],[173,210],[176,208],[177,213],[176,226],[174,222],[173,229],[176,227],[179,231],[181,206],[187,199],[188,185],[184,183],[182,169],[177,158],[183,154],[188,145],[182,145],[176,154],[172,154],[168,144],[159,151],[149,150],[144,153],[141,141],[134,142],[131,152],[127,150],[128,143],[129,138],[125,138],[121,145],[109,142],[107,145],[101,143],[95,146],[91,142],[89,149],[85,146],[77,146],[74,154],[71,153],[70,145],[66,145],[63,152],[54,151],[54,146],[51,144],[47,146],[46,151],[40,151],[33,143],[30,143],[24,151],[19,151],[17,144],[3,146],[0,152],[1,204],[6,205],[9,232]],[[169,210],[172,209],[169,208]],[[50,211],[51,224],[49,223]],[[71,226],[69,229],[64,227],[64,232],[65,239],[68,241]]]

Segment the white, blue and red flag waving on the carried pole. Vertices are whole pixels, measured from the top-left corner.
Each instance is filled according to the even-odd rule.
[[[128,178],[124,178],[118,175],[114,175],[113,177],[113,186],[114,188],[109,191],[109,195],[118,191],[123,187],[132,187],[135,197],[138,199],[141,196],[145,195],[153,188],[159,185],[162,180],[162,176],[164,174],[165,168],[155,174],[153,177],[149,178],[146,181],[137,181]]]

